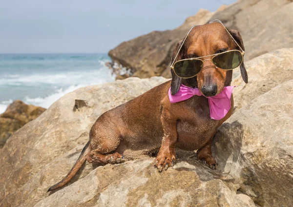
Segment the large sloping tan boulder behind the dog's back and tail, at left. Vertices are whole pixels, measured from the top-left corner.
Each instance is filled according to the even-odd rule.
[[[48,186],[74,164],[102,113],[166,81],[131,78],[80,88],[14,132],[0,151],[0,206],[33,206],[48,196]],[[80,176],[91,169],[87,165]]]

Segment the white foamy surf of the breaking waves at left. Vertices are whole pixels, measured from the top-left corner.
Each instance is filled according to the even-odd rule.
[[[10,75],[0,78],[0,84],[3,85],[42,86],[42,84],[51,84],[53,90],[49,95],[38,98],[26,96],[22,100],[26,104],[33,104],[44,108],[48,108],[65,94],[80,87],[113,81],[115,81],[115,76],[108,68],[79,72],[63,72],[58,74]],[[3,113],[11,103],[12,100],[0,102],[0,114]]]

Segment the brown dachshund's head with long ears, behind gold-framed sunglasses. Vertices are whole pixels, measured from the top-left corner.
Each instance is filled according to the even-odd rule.
[[[242,38],[237,30],[228,29],[231,36],[244,50]],[[238,49],[238,45],[233,41],[225,27],[219,22],[213,22],[194,27],[183,43],[179,41],[173,52],[172,61],[176,57],[179,48],[182,48],[178,53],[175,61],[188,58],[197,58],[209,56],[212,54],[221,53],[228,50]],[[201,58],[203,61],[211,57]],[[240,65],[241,75],[245,83],[248,82],[247,72],[242,62]],[[222,70],[217,68],[211,60],[203,62],[201,71],[193,78],[181,79],[171,69],[172,82],[171,94],[178,92],[180,84],[188,84],[192,87],[197,87],[205,96],[214,96],[220,93],[225,86],[230,85],[232,80],[232,70]]]

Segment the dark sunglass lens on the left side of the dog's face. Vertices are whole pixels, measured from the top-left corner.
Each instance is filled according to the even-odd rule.
[[[203,66],[200,60],[185,60],[174,64],[174,72],[181,78],[191,78],[199,73]]]

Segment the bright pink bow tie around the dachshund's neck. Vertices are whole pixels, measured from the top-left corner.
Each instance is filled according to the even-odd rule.
[[[235,86],[226,86],[221,93],[207,97],[209,100],[209,116],[214,120],[223,119],[231,108],[231,94]],[[182,102],[190,99],[192,96],[203,96],[198,88],[191,88],[181,84],[179,91],[171,95],[171,88],[168,91],[171,103]]]

